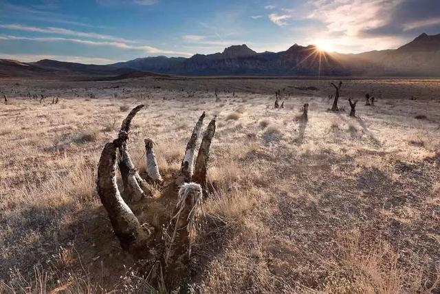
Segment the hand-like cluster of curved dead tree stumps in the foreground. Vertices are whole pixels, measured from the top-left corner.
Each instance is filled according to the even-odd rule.
[[[205,114],[200,116],[177,178],[162,178],[153,150],[155,144],[150,138],[145,139],[144,179],[133,165],[127,143],[131,120],[143,107],[133,108],[122,122],[117,138],[104,145],[98,164],[98,196],[122,249],[153,264],[148,282],[162,281],[173,291],[189,278],[191,246],[202,215],[202,200],[212,187],[206,171],[216,121],[212,119],[206,128],[195,157]],[[116,180],[117,168],[124,186],[122,194]],[[142,212],[135,216],[133,211]]]

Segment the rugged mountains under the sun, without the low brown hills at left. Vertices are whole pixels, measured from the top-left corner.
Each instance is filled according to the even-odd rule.
[[[360,54],[320,52],[314,45],[298,44],[283,52],[257,53],[243,44],[188,59],[148,57],[113,66],[183,75],[440,76],[440,34],[421,34],[396,50]]]

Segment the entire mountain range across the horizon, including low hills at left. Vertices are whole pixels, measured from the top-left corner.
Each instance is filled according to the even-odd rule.
[[[395,50],[340,54],[315,45],[292,45],[282,52],[255,52],[233,45],[223,52],[184,57],[146,57],[111,65],[0,59],[1,76],[440,76],[440,34],[421,34]]]

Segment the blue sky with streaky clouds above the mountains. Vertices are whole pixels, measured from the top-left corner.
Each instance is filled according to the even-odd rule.
[[[0,0],[0,58],[108,64],[294,43],[359,53],[440,33],[440,0]]]

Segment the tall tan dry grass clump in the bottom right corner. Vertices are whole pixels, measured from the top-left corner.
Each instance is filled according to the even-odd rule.
[[[358,229],[340,233],[337,244],[335,255],[327,260],[332,270],[325,293],[431,293],[439,286],[440,275],[432,285],[423,285],[423,271],[401,269],[391,244],[363,239]]]

